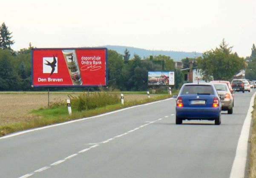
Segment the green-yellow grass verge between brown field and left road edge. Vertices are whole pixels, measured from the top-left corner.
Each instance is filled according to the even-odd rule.
[[[173,93],[173,95],[175,95],[175,93]],[[159,95],[156,98],[147,98],[139,101],[133,100],[133,101],[126,102],[124,105],[122,105],[121,103],[118,103],[118,104],[108,105],[101,108],[91,109],[91,110],[82,111],[82,112],[72,110],[72,115],[68,115],[66,106],[60,106],[54,109],[41,108],[41,109],[34,110],[30,113],[31,115],[33,115],[33,117],[35,117],[35,119],[33,119],[32,121],[17,122],[13,124],[0,126],[0,137],[13,132],[33,129],[33,128],[47,126],[55,123],[63,123],[66,121],[72,121],[80,118],[87,118],[95,115],[100,115],[106,112],[127,108],[130,106],[141,105],[145,103],[154,102],[157,100],[164,100],[167,98],[171,98],[171,95]]]

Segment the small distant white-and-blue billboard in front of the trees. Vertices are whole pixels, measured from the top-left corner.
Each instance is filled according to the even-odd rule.
[[[174,85],[174,72],[149,71],[148,85]]]

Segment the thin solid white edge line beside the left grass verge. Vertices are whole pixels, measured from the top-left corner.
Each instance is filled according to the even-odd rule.
[[[173,98],[168,98],[168,99],[165,99],[165,100],[159,100],[159,101],[155,101],[155,102],[152,102],[152,103],[146,103],[146,104],[141,104],[141,105],[137,105],[137,106],[131,106],[131,107],[128,107],[128,108],[119,109],[119,110],[112,111],[112,112],[107,112],[107,113],[104,113],[104,114],[101,114],[101,115],[95,115],[95,116],[92,116],[92,117],[89,117],[89,118],[82,118],[82,119],[77,119],[77,120],[74,120],[74,121],[57,123],[57,124],[53,124],[53,125],[50,125],[50,126],[43,126],[43,127],[39,127],[39,128],[36,128],[36,129],[25,130],[25,131],[22,131],[22,132],[17,132],[17,133],[14,133],[14,134],[10,134],[10,135],[0,137],[0,140],[5,139],[5,138],[14,137],[14,136],[21,135],[21,134],[25,134],[25,133],[29,133],[29,132],[34,132],[34,131],[37,131],[37,130],[48,129],[48,128],[55,127],[55,126],[65,125],[65,124],[68,124],[68,123],[84,121],[84,120],[92,119],[92,118],[99,118],[99,117],[102,117],[102,116],[105,116],[105,115],[110,115],[110,114],[113,114],[113,113],[116,113],[116,112],[125,111],[127,109],[132,109],[132,108],[136,108],[136,107],[140,107],[140,106],[147,106],[147,105],[150,105],[150,104],[159,103],[159,102],[167,101],[167,100],[171,100],[171,99],[173,99]]]

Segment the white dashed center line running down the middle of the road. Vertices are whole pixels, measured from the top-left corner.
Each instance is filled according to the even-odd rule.
[[[172,115],[174,115],[174,114],[172,114]],[[167,118],[167,117],[169,117],[169,116],[167,115],[167,116],[164,116],[164,117]],[[151,123],[155,123],[156,121],[161,121],[162,119],[163,119],[163,118],[159,118],[158,120],[155,120],[155,121],[146,121],[146,122],[147,122],[146,124],[144,124],[144,125],[142,125],[142,126],[139,126],[139,127],[135,128],[135,129],[132,129],[132,130],[130,130],[130,131],[128,131],[128,132],[125,132],[125,133],[123,133],[123,134],[121,134],[121,135],[117,135],[117,136],[115,136],[115,137],[113,137],[113,138],[109,138],[109,139],[106,140],[106,141],[102,141],[102,142],[100,142],[100,143],[95,143],[95,144],[87,144],[87,145],[92,145],[92,146],[90,146],[89,148],[83,149],[83,150],[79,151],[78,153],[75,153],[75,154],[73,154],[73,155],[70,155],[70,156],[64,158],[63,160],[56,161],[55,163],[51,164],[50,166],[56,166],[56,165],[58,165],[58,164],[60,164],[60,163],[63,163],[63,162],[66,161],[66,160],[69,160],[69,159],[71,159],[71,158],[74,158],[74,157],[77,156],[79,153],[86,152],[86,151],[88,151],[88,150],[90,150],[90,149],[92,149],[92,148],[95,148],[95,147],[97,147],[97,146],[100,146],[100,144],[108,143],[109,141],[112,141],[112,140],[114,140],[115,138],[119,138],[119,137],[122,137],[122,136],[124,136],[124,135],[127,135],[128,133],[134,132],[135,130],[138,130],[138,129],[140,129],[140,128],[144,127],[144,126],[147,126],[147,125],[149,125],[149,124],[151,124]],[[26,174],[26,175],[23,175],[22,177],[19,177],[19,178],[28,178],[29,176],[32,176],[32,175],[33,175],[34,173],[36,173],[36,172],[42,172],[42,171],[44,171],[44,170],[46,170],[46,169],[51,168],[50,166],[37,169],[36,171],[34,171],[34,172],[32,172],[32,173],[29,173],[29,174]]]

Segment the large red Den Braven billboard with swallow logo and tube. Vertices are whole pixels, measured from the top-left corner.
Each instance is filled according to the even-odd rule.
[[[106,48],[32,49],[32,87],[107,85]]]

